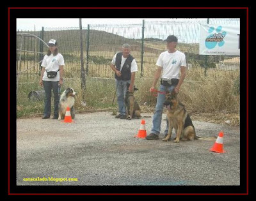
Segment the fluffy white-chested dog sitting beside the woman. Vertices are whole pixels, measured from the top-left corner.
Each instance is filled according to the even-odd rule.
[[[58,120],[64,119],[67,107],[70,108],[70,114],[72,119],[75,118],[75,96],[76,92],[72,88],[67,88],[60,96],[60,103],[59,103],[59,117]]]

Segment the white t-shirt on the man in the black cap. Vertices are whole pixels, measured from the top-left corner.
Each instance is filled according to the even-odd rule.
[[[167,50],[160,54],[156,65],[163,68],[161,78],[179,79],[180,66],[186,67],[186,56],[179,50],[173,53],[169,53]]]

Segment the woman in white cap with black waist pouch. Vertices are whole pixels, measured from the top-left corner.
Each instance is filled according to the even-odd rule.
[[[52,119],[58,119],[58,105],[60,101],[59,87],[63,84],[63,56],[58,52],[58,43],[51,39],[48,43],[49,49],[42,62],[42,70],[39,84],[44,86],[44,117],[51,115],[51,94],[54,94],[54,115]]]

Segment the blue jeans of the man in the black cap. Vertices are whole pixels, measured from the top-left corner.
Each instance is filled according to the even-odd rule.
[[[164,87],[163,85],[160,85],[159,91],[166,91],[166,89],[169,92],[172,92],[173,89],[176,86],[168,86]],[[164,108],[164,101],[165,101],[165,94],[157,94],[157,103],[156,108],[153,116],[153,128],[151,130],[151,133],[155,133],[156,135],[159,135],[161,130],[161,121],[162,121],[162,114],[163,114],[163,108]],[[168,133],[169,124],[168,121],[166,121],[166,129],[164,130],[164,134]]]

